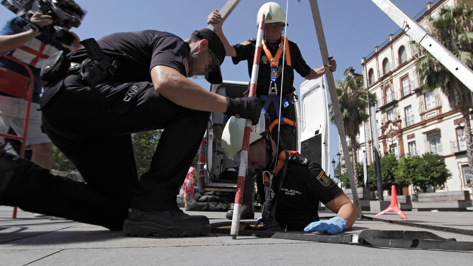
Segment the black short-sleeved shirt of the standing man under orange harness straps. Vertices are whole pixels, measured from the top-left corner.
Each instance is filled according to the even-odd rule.
[[[280,40],[278,41],[279,44]],[[236,56],[232,57],[234,64],[237,64],[240,61],[246,60],[248,63],[248,74],[251,78],[251,71],[253,69],[253,59],[254,59],[254,48],[256,46],[256,39],[251,39],[241,44],[233,45],[235,47]],[[279,45],[278,45],[279,46]],[[274,56],[275,51],[268,46],[268,50]],[[294,70],[296,70],[301,77],[305,77],[309,74],[310,67],[307,65],[304,58],[300,54],[299,47],[296,43],[289,41],[289,50],[291,56],[291,66],[288,66],[286,59],[284,59],[284,86],[282,89],[283,93],[290,93],[296,89],[293,86],[294,83]],[[287,50],[286,50],[287,52]],[[281,73],[282,73],[282,59],[284,55],[281,55],[278,64],[278,76],[276,79],[276,84],[278,86],[278,91],[280,90],[281,85]],[[259,95],[268,95],[269,86],[271,83],[271,65],[264,53],[263,49],[261,50],[260,58],[260,69],[258,72],[258,81],[256,83],[256,94]]]

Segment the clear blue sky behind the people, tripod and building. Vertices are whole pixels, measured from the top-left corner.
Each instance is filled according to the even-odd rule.
[[[114,32],[158,29],[186,38],[194,29],[207,27],[206,19],[214,9],[221,9],[227,0],[76,0],[87,15],[74,31],[81,39],[100,38]],[[263,0],[241,0],[224,23],[223,30],[231,44],[241,43],[256,37],[256,13]],[[284,10],[286,1],[275,0]],[[370,0],[319,0],[325,38],[330,55],[337,60],[335,79],[343,79],[348,67],[361,73],[361,58],[384,42],[398,26]],[[401,9],[414,16],[426,7],[428,0],[394,0]],[[289,0],[287,37],[295,41],[307,64],[319,67],[320,56],[314,22],[308,0]],[[0,21],[14,14],[0,7]],[[224,80],[249,81],[246,63],[234,65],[230,58],[222,64]],[[209,89],[204,79],[193,79]],[[295,73],[294,87],[298,88],[304,79]],[[330,154],[338,151],[338,131],[331,125]],[[336,157],[335,157],[336,158]],[[331,160],[331,159],[330,159]],[[327,171],[329,169],[326,169]],[[333,169],[330,169],[333,176]]]

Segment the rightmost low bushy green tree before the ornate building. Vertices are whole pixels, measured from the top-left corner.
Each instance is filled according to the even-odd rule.
[[[443,185],[452,176],[445,165],[445,158],[432,152],[422,155],[419,175],[412,180],[414,186],[420,186],[425,192],[429,186]]]

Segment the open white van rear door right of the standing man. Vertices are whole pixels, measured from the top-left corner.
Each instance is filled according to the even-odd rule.
[[[328,171],[329,113],[324,76],[300,85],[296,109],[299,153]]]

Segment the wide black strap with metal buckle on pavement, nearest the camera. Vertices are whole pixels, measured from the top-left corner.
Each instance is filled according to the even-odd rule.
[[[229,222],[212,224],[213,233],[230,234],[230,229],[228,228]],[[385,248],[420,248],[473,252],[473,242],[445,239],[427,231],[385,231],[368,229],[355,234],[328,235],[305,232],[240,230],[238,235]]]

